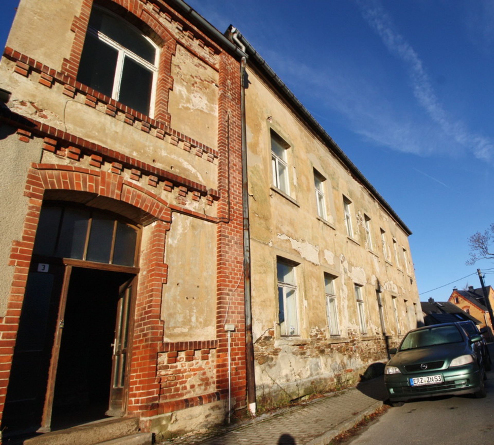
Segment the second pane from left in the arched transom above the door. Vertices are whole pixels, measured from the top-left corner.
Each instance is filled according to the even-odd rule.
[[[88,219],[89,212],[86,209],[65,208],[55,256],[82,259]]]

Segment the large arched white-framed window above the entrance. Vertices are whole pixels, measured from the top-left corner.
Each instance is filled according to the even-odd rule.
[[[153,116],[158,47],[107,9],[91,10],[77,80]]]

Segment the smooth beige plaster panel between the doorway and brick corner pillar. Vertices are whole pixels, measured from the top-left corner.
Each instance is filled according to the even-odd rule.
[[[166,342],[216,337],[216,225],[173,214],[166,237],[168,280],[162,318]]]

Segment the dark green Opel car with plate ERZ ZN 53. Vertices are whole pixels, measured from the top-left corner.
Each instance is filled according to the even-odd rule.
[[[468,337],[457,323],[419,327],[407,333],[384,368],[391,405],[447,394],[486,397],[480,335]]]

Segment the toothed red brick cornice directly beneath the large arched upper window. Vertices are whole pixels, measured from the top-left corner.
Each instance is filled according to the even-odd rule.
[[[81,93],[85,96],[84,104],[88,107],[95,108],[98,103],[106,105],[106,114],[108,116],[116,117],[117,113],[123,113],[125,115],[124,122],[135,126],[138,123],[139,128],[146,133],[152,134],[158,139],[164,139],[165,135],[170,137],[173,145],[178,145],[180,142],[183,145],[183,149],[191,151],[190,148],[195,147],[196,155],[202,156],[206,153],[206,160],[213,162],[215,158],[218,158],[219,152],[206,144],[199,142],[177,130],[169,127],[162,121],[157,121],[149,116],[146,116],[130,107],[127,107],[121,102],[112,99],[109,96],[84,85],[81,82],[74,80],[73,78],[66,76],[47,65],[42,64],[28,57],[25,54],[21,54],[19,51],[15,51],[10,47],[6,47],[3,55],[13,62],[16,62],[14,71],[24,77],[29,77],[32,72],[39,73],[45,79],[51,78],[51,84],[59,83],[63,86],[62,94],[74,98],[76,94]],[[43,83],[44,84],[44,83]]]

